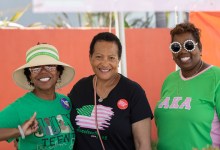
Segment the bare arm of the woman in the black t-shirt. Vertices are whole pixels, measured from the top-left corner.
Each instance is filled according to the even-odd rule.
[[[151,118],[132,124],[132,132],[136,150],[151,150]]]

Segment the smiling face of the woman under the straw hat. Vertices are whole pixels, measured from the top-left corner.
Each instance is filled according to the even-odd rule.
[[[35,91],[54,91],[60,72],[57,66],[37,66],[30,68],[30,79]]]

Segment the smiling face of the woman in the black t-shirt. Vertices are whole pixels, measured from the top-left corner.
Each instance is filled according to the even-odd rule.
[[[118,46],[115,42],[97,41],[94,53],[90,55],[90,64],[97,78],[109,80],[118,73]]]

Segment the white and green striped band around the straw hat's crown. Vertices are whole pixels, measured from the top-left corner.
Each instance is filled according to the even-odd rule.
[[[29,54],[26,58],[26,62],[30,62],[34,57],[36,56],[39,56],[39,55],[47,55],[47,56],[50,56],[56,60],[59,60],[59,56],[57,55],[57,53],[51,51],[51,50],[38,50],[38,51],[35,51],[31,54]]]

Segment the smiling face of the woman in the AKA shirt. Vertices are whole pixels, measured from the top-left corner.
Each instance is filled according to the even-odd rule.
[[[192,40],[196,42],[190,32],[176,34],[173,37],[173,42],[179,42],[181,45],[183,45],[183,43],[186,40]],[[198,66],[201,61],[201,50],[196,45],[195,50],[189,52],[185,50],[182,46],[182,49],[180,50],[180,52],[173,53],[173,60],[181,68],[183,72],[184,71],[194,72],[194,70],[196,69],[196,66]]]

